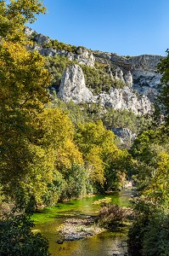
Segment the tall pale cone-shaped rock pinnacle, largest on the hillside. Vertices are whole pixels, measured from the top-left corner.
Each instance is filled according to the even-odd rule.
[[[67,67],[59,86],[59,98],[65,102],[92,102],[93,94],[85,85],[82,68],[76,64]]]

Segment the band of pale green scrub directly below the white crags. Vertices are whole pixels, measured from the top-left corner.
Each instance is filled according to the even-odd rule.
[[[72,101],[63,102],[57,97],[54,98],[51,107],[66,111],[75,126],[90,121],[96,122],[101,119],[104,126],[109,130],[112,128],[127,127],[130,131],[138,134],[149,128],[152,122],[152,120],[150,118],[148,119],[146,116],[137,116],[127,110],[106,108],[106,111],[103,111],[100,104],[87,104],[82,102],[77,105]]]

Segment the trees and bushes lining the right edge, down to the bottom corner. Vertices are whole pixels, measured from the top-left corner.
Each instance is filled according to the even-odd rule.
[[[129,231],[129,248],[134,255],[169,255],[169,144],[168,144],[168,51],[159,64],[162,73],[160,101],[166,123],[144,131],[135,140],[131,154],[136,160],[138,199],[133,204],[135,218]]]

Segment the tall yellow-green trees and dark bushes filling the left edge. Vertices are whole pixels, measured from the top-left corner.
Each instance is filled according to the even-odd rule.
[[[3,216],[0,230],[1,255],[48,255],[48,243],[31,233],[25,209],[39,200],[50,160],[41,147],[38,115],[48,102],[50,75],[37,52],[26,49],[24,25],[44,13],[38,1],[0,3],[0,186],[2,203],[8,200],[17,212]],[[36,192],[37,191],[37,192]]]

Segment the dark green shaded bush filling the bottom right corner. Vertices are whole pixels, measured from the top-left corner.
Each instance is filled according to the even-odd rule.
[[[134,205],[135,218],[129,230],[132,255],[166,256],[168,251],[168,213],[139,200]]]

